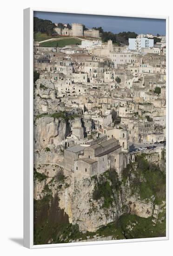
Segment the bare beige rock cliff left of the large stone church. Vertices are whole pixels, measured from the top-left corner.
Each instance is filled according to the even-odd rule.
[[[60,162],[65,140],[69,130],[63,119],[40,117],[34,123],[34,161],[40,163]]]

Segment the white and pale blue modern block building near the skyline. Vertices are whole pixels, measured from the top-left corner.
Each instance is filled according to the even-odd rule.
[[[129,38],[129,50],[141,51],[141,48],[149,48],[154,46],[154,40],[146,37]]]

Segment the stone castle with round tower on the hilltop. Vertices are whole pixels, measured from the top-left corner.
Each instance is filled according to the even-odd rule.
[[[67,36],[86,36],[86,37],[92,37],[92,38],[98,38],[100,37],[99,30],[95,29],[87,29],[84,30],[83,25],[79,23],[72,23],[72,29],[69,29],[68,27],[60,28],[58,27],[58,23],[55,23],[57,26],[55,28],[55,31],[57,34],[60,35],[67,35]]]

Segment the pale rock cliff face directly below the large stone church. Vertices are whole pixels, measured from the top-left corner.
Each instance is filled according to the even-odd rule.
[[[46,173],[45,168],[47,167],[41,168],[44,173]],[[53,197],[58,190],[60,209],[63,209],[67,214],[70,223],[79,225],[80,231],[94,232],[103,225],[115,222],[123,214],[131,213],[144,218],[153,214],[153,199],[142,201],[138,195],[131,195],[128,184],[121,186],[117,191],[113,189],[112,202],[105,207],[104,197],[98,200],[93,199],[93,192],[98,182],[96,179],[76,180],[73,173],[64,173],[66,174],[66,179],[63,183],[56,179],[51,183],[50,178],[49,182],[35,183],[35,199],[42,198],[44,184],[49,185]],[[111,184],[111,181],[109,181],[109,184]]]

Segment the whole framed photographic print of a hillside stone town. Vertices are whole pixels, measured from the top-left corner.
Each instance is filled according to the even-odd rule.
[[[168,239],[168,17],[24,10],[24,245]]]

